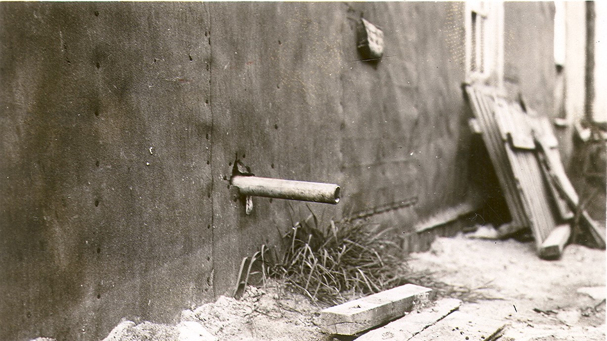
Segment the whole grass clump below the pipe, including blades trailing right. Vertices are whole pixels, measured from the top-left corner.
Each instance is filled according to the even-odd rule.
[[[282,257],[277,249],[262,245],[253,256],[243,258],[234,296],[242,296],[248,284],[266,283],[270,276],[283,280],[312,302],[327,305],[407,283],[432,288],[438,297],[464,302],[501,299],[483,291],[490,288],[489,283],[467,288],[445,283],[432,271],[414,271],[393,242],[394,236],[393,229],[348,221],[330,221],[323,228],[310,210],[308,219],[295,223],[283,235]]]

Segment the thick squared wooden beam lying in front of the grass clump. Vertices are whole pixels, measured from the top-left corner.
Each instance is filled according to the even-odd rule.
[[[324,309],[320,326],[325,333],[355,335],[429,305],[433,296],[432,289],[405,284]]]

